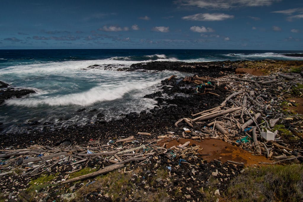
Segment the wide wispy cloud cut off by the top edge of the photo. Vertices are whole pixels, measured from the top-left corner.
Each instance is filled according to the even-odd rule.
[[[229,9],[234,7],[269,6],[281,0],[176,0],[181,6],[195,6],[206,9]]]

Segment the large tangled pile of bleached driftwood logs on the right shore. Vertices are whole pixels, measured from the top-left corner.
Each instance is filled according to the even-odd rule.
[[[192,128],[183,133],[194,140],[205,137],[224,141],[250,150],[255,155],[264,154],[268,158],[293,160],[303,154],[301,145],[284,142],[278,130],[271,132],[276,124],[289,125],[288,128],[301,136],[302,114],[285,115],[281,105],[291,94],[292,88],[302,84],[299,74],[272,74],[269,76],[229,75],[221,78],[192,77],[188,81],[195,84],[225,84],[230,95],[217,107],[196,114],[192,118],[182,118],[175,123],[184,122]],[[302,89],[299,96],[302,97]],[[295,106],[294,101],[285,104]],[[201,130],[194,127],[200,125]],[[196,128],[196,127],[195,127]],[[261,136],[263,134],[263,137]],[[295,135],[294,135],[295,136]],[[301,138],[301,137],[300,137]],[[295,151],[296,150],[296,151]]]

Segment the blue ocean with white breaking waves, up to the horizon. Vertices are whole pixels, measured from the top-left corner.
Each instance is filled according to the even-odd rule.
[[[6,100],[0,105],[1,133],[26,132],[28,123],[53,127],[94,123],[121,114],[150,110],[156,101],[143,98],[160,90],[161,80],[184,73],[173,71],[117,71],[139,62],[224,60],[303,60],[284,54],[302,51],[65,49],[0,50],[0,81],[15,89],[36,93]],[[99,68],[86,69],[91,65]],[[0,128],[0,129],[1,129]]]

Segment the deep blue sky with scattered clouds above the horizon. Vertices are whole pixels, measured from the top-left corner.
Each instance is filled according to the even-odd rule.
[[[303,50],[302,0],[1,0],[0,49]]]

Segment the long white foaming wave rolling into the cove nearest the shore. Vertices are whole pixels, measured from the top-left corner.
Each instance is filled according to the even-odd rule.
[[[87,106],[98,101],[112,101],[122,98],[123,95],[132,91],[140,90],[159,83],[156,81],[136,81],[125,82],[124,84],[103,84],[97,87],[91,88],[88,91],[81,93],[72,93],[65,95],[57,95],[55,97],[41,96],[40,98],[30,97],[21,99],[9,99],[5,101],[8,105],[37,107],[38,105],[50,105],[50,106],[66,106],[66,105],[80,105]]]

